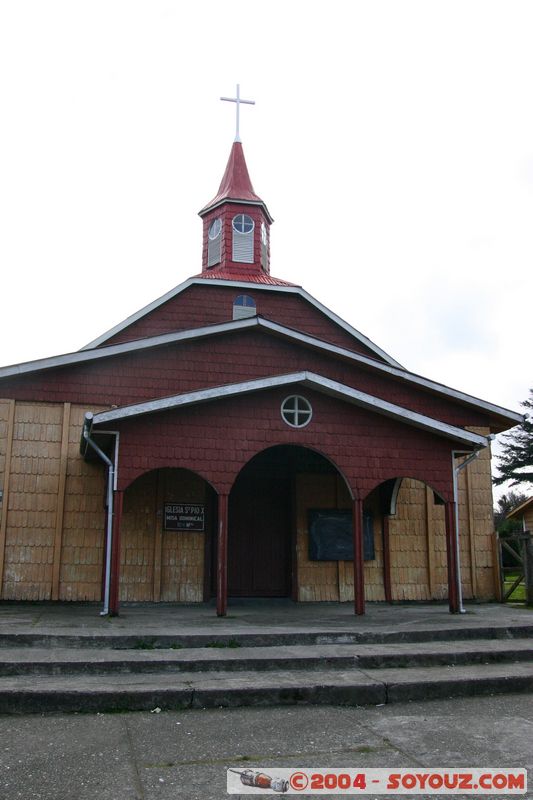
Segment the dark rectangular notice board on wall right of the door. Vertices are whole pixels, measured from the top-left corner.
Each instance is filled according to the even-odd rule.
[[[311,561],[353,561],[351,509],[310,508],[309,559]],[[373,561],[374,526],[372,514],[363,514],[363,557]]]

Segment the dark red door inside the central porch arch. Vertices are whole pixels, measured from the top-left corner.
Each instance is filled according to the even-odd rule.
[[[291,481],[288,470],[245,468],[229,498],[228,595],[291,593]]]

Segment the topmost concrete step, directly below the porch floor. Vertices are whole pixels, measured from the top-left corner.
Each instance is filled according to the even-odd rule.
[[[419,642],[452,642],[473,641],[478,639],[533,639],[533,624],[513,625],[471,625],[462,621],[458,624],[434,628],[398,628],[396,630],[354,630],[356,623],[337,629],[302,629],[301,627],[268,627],[257,628],[253,632],[235,629],[231,624],[220,621],[216,631],[210,627],[204,630],[197,627],[191,632],[162,634],[152,632],[150,628],[140,629],[136,633],[124,633],[119,628],[101,620],[98,632],[93,628],[80,628],[72,633],[72,628],[62,631],[56,628],[39,632],[2,632],[0,633],[0,654],[4,648],[38,647],[38,648],[113,648],[118,650],[133,649],[170,649],[196,647],[278,647],[288,645],[326,645],[326,644],[393,644]],[[106,628],[108,628],[106,630]]]

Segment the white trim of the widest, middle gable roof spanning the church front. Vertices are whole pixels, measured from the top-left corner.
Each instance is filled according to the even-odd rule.
[[[235,331],[246,330],[249,328],[264,328],[272,333],[282,336],[295,342],[301,342],[304,345],[312,347],[315,350],[325,351],[332,353],[348,361],[359,364],[365,364],[379,372],[400,378],[407,383],[414,383],[424,389],[443,394],[451,397],[454,400],[464,403],[468,406],[480,408],[489,414],[497,414],[498,416],[505,417],[515,424],[523,422],[522,414],[502,408],[501,406],[489,403],[486,400],[480,400],[477,397],[460,392],[456,389],[451,389],[448,386],[437,383],[436,381],[423,378],[420,375],[415,375],[412,372],[407,372],[403,368],[397,368],[383,364],[369,356],[364,356],[361,353],[354,353],[344,347],[329,344],[321,339],[316,339],[305,333],[300,333],[292,328],[286,328],[277,322],[263,319],[262,317],[249,317],[242,320],[234,320],[231,322],[223,322],[219,325],[206,325],[203,328],[193,328],[186,331],[176,331],[175,333],[165,333],[161,336],[152,336],[149,339],[135,339],[132,342],[124,342],[122,344],[108,345],[107,347],[99,347],[94,350],[80,350],[76,353],[67,353],[65,355],[53,356],[52,358],[43,358],[36,361],[27,361],[22,364],[13,364],[8,367],[0,368],[0,378],[16,377],[18,375],[25,375],[31,372],[39,372],[46,369],[54,369],[56,367],[65,367],[75,364],[82,364],[89,361],[96,361],[103,358],[111,358],[113,356],[123,355],[125,353],[141,352],[143,350],[150,350],[155,347],[161,347],[168,344],[175,344],[183,341],[194,341],[195,339],[202,339],[208,336],[217,336],[224,333],[233,333]]]

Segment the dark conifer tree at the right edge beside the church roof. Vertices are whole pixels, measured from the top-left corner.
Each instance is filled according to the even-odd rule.
[[[524,421],[502,436],[502,454],[497,459],[500,474],[493,478],[496,486],[506,481],[510,486],[533,484],[533,389],[529,395],[520,404],[526,409]]]

